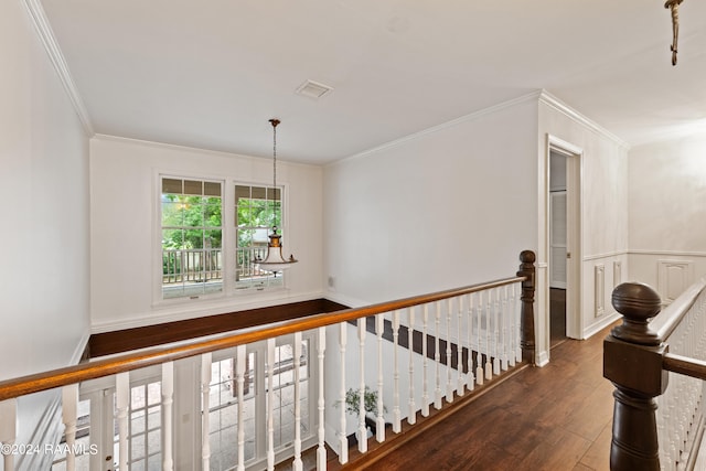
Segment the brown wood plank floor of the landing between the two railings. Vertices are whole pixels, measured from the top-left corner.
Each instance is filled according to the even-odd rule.
[[[609,470],[613,386],[602,377],[606,329],[567,340],[367,468],[371,470]]]

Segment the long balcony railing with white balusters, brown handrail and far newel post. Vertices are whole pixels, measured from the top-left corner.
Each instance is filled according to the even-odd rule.
[[[263,384],[268,385],[266,387],[269,395],[268,403],[271,406],[275,340],[284,335],[291,335],[295,338],[291,371],[296,408],[292,469],[301,470],[302,440],[299,399],[302,392],[299,385],[299,373],[303,332],[313,332],[318,339],[314,352],[311,352],[312,358],[308,361],[308,364],[315,364],[323,372],[327,370],[328,355],[332,355],[336,362],[340,362],[338,378],[324,378],[321,373],[318,375],[318,384],[311,384],[308,388],[310,394],[317,395],[315,410],[310,411],[310,414],[318,416],[315,430],[317,468],[327,469],[329,460],[327,445],[335,450],[340,463],[346,463],[349,461],[349,436],[346,433],[350,431],[346,413],[341,407],[341,410],[336,413],[339,417],[332,418],[327,417],[325,411],[331,410],[332,403],[345,403],[346,393],[351,387],[364,390],[371,383],[370,378],[375,378],[373,385],[377,393],[378,406],[376,416],[367,417],[364,395],[361,394],[359,416],[353,418],[357,431],[357,451],[365,453],[368,442],[366,427],[371,419],[377,426],[374,440],[384,442],[388,426],[392,426],[393,433],[398,433],[403,420],[414,425],[418,414],[422,417],[428,416],[430,407],[441,408],[443,402],[453,402],[454,397],[462,396],[466,392],[472,390],[475,385],[482,385],[494,378],[522,362],[523,358],[534,363],[535,255],[531,250],[524,250],[520,259],[522,265],[516,276],[505,279],[364,308],[314,314],[243,329],[227,334],[147,349],[103,360],[98,358],[74,366],[0,382],[0,442],[3,451],[3,469],[4,471],[14,470],[15,457],[18,452],[23,451],[15,443],[18,398],[46,390],[61,390],[62,422],[67,446],[65,447],[66,469],[68,471],[75,469],[75,450],[72,446],[76,441],[76,404],[79,396],[79,385],[84,382],[106,377],[110,378],[115,387],[115,418],[118,437],[115,464],[120,471],[129,469],[127,435],[130,409],[130,373],[150,366],[161,368],[162,469],[173,469],[178,465],[174,462],[173,429],[175,424],[179,424],[173,417],[176,394],[174,362],[197,357],[201,365],[201,382],[195,384],[194,388],[197,390],[197,395],[202,395],[203,410],[206,411],[210,410],[207,403],[212,354],[225,349],[233,349],[237,353],[233,366],[232,384],[235,389],[234,396],[237,397],[238,403],[237,440],[233,446],[237,448],[236,469],[244,470],[247,464],[244,459],[246,431],[243,425],[243,399],[247,390],[245,383],[248,371],[246,349],[256,342],[267,344],[267,367]],[[370,317],[374,319],[375,325],[375,331],[372,334],[366,329],[366,318]],[[354,322],[355,327],[350,325],[350,322]],[[349,339],[351,328],[353,329],[351,336],[355,340]],[[392,330],[392,355],[386,353],[387,346],[382,342],[386,329],[387,334]],[[350,347],[347,347],[349,340],[352,340]],[[373,360],[367,356],[371,351]],[[430,358],[435,361],[432,362]],[[346,376],[346,365],[355,365],[356,362],[357,376]],[[366,372],[366,368],[372,372]],[[403,372],[407,374],[403,375]],[[403,381],[403,376],[408,379]],[[330,390],[329,397],[324,397],[324,384],[332,383],[338,384],[339,390]],[[406,390],[400,385],[402,383],[406,383]],[[387,408],[391,414],[384,416],[384,410]],[[266,462],[268,469],[274,469],[271,408],[267,415],[268,417],[265,418],[268,431]],[[202,465],[204,469],[208,469],[211,453],[207,439],[210,414],[204,413],[201,416],[203,420],[203,433],[201,435],[205,436],[202,439]],[[327,429],[335,422],[339,422],[338,430],[331,435]],[[113,459],[113,457],[106,459]]]

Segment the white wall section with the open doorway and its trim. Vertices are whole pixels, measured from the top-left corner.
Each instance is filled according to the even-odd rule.
[[[541,167],[546,165],[547,139],[558,138],[581,152],[581,286],[578,317],[579,338],[587,338],[614,318],[610,306],[612,288],[628,276],[628,148],[600,127],[575,113],[550,96],[539,100]],[[541,168],[538,193],[546,205],[546,167]],[[543,186],[544,185],[544,186]],[[541,215],[542,218],[542,215]],[[546,332],[548,303],[545,291],[548,254],[545,222],[539,222],[539,250],[537,254],[538,318],[537,329]],[[618,267],[620,269],[618,270]],[[602,278],[597,272],[602,270]],[[596,282],[600,281],[601,286]],[[602,308],[602,310],[600,309]],[[548,338],[538,339],[548,349]]]

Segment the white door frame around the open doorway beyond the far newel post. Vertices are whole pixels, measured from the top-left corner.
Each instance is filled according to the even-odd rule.
[[[544,151],[539,158],[539,247],[537,254],[537,297],[538,312],[535,319],[537,333],[538,365],[549,361],[549,156],[552,152],[568,157],[567,163],[567,250],[571,257],[567,260],[567,319],[566,334],[573,339],[582,338],[581,328],[581,220],[582,220],[582,162],[584,150],[570,142],[549,133],[546,135]]]

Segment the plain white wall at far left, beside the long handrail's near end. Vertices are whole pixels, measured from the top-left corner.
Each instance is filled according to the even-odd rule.
[[[78,361],[89,334],[88,139],[20,1],[0,2],[0,379]],[[57,439],[53,392],[18,402],[18,443]],[[17,457],[46,469],[51,456]]]

